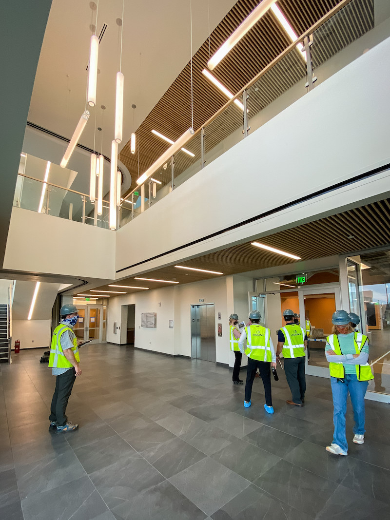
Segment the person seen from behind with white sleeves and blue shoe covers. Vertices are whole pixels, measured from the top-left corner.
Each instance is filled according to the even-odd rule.
[[[270,330],[261,326],[259,324],[260,320],[261,314],[259,311],[251,310],[249,314],[250,325],[249,327],[244,327],[238,342],[241,353],[248,356],[244,407],[249,408],[252,404],[252,386],[258,368],[264,385],[264,409],[267,413],[274,413],[271,394],[271,366],[276,368],[276,353],[271,340]],[[244,350],[245,341],[246,349]]]

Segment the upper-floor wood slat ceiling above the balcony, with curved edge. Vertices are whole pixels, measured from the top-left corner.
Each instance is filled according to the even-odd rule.
[[[316,31],[312,47],[314,69],[373,27],[373,1],[354,0]],[[312,0],[311,2],[279,0],[278,3],[296,34],[302,34],[339,2],[338,0]],[[207,39],[193,56],[194,129],[200,128],[227,101],[225,96],[203,76],[202,70],[206,68],[210,56],[257,5],[258,0],[239,0],[212,32],[210,40]],[[213,74],[231,92],[236,93],[289,44],[290,41],[275,16],[268,11],[218,64]],[[174,49],[172,51],[174,52]],[[248,101],[250,117],[300,81],[305,73],[305,63],[298,51],[294,50],[251,88]],[[241,125],[242,113],[235,106],[229,107],[226,113],[206,129],[206,153]],[[130,142],[127,142],[121,151],[121,160],[132,175],[132,186],[128,191],[136,187],[135,181],[138,176],[144,173],[169,146],[165,141],[151,134],[152,129],[176,140],[189,126],[191,126],[190,62],[137,129],[139,158],[138,151],[135,155],[131,154]],[[179,152],[175,157],[175,177],[187,170],[194,162],[200,161],[199,138],[191,141],[187,148],[195,154],[195,157],[191,158]],[[170,183],[171,168],[162,170],[155,177],[162,181],[163,185]],[[162,186],[158,186],[158,189]]]

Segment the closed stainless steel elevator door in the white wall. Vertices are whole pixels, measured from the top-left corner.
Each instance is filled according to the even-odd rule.
[[[214,304],[191,305],[191,357],[215,363]]]

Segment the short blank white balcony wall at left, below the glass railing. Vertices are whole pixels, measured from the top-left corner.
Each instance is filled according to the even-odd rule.
[[[12,208],[4,269],[113,279],[115,232]]]

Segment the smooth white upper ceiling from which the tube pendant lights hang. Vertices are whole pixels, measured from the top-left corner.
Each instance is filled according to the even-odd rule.
[[[29,121],[67,138],[85,108],[90,25],[96,16],[89,4],[89,0],[53,0],[31,98]],[[190,4],[194,54],[235,0],[124,0],[123,145],[190,60]],[[97,35],[103,23],[108,27],[99,45],[97,104],[90,109],[80,142],[93,148],[96,112],[96,126],[103,128],[103,153],[109,156],[120,53],[116,19],[122,18],[122,0],[100,0],[97,16]],[[101,105],[106,106],[104,120]]]

